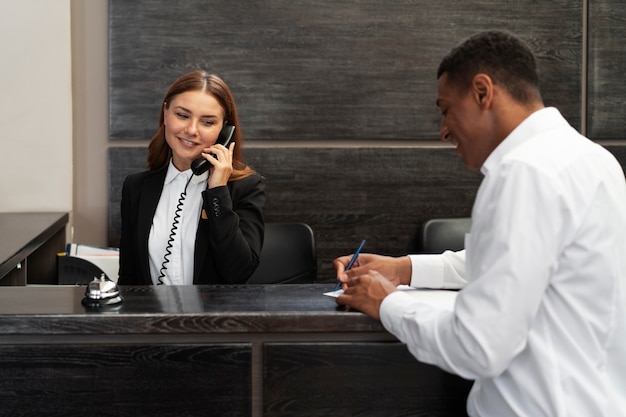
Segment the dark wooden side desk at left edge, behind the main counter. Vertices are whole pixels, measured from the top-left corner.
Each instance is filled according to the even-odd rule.
[[[67,213],[0,213],[0,285],[55,284]]]

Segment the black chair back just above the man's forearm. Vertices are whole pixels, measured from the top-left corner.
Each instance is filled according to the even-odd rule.
[[[465,248],[465,234],[472,226],[469,217],[431,219],[422,224],[418,236],[419,253],[442,253]]]

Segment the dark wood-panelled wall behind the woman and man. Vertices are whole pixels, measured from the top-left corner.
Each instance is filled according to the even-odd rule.
[[[546,104],[574,127],[593,139],[626,132],[618,0],[110,0],[109,13],[112,245],[123,178],[144,169],[165,90],[195,68],[233,90],[246,158],[267,179],[266,220],[312,226],[319,281],[363,238],[398,255],[425,219],[470,214],[480,175],[428,141],[439,61],[477,31],[526,39]],[[624,163],[626,148],[610,149]]]

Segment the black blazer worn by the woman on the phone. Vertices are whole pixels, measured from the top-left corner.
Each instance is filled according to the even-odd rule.
[[[151,285],[148,235],[167,166],[129,175],[122,188],[120,285]],[[202,193],[194,284],[242,284],[259,264],[265,223],[265,184],[253,174]],[[204,215],[206,213],[206,216]],[[206,218],[204,218],[206,217]]]

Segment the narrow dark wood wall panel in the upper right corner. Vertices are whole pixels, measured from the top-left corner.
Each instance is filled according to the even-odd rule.
[[[626,8],[621,0],[589,2],[587,132],[624,139],[626,132]]]

